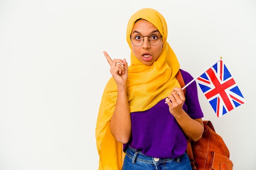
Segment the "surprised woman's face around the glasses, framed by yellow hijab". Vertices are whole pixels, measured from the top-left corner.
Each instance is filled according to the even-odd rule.
[[[133,35],[141,35],[140,37],[144,36],[144,41],[140,46],[135,46],[131,43],[132,51],[135,54],[135,57],[144,65],[153,64],[162,52],[163,40],[161,37],[159,37],[160,42],[156,46],[149,43],[148,36],[152,34],[162,36],[157,28],[146,20],[138,20],[133,26],[131,37]],[[155,39],[155,37],[152,38]],[[139,39],[139,37],[137,39]]]

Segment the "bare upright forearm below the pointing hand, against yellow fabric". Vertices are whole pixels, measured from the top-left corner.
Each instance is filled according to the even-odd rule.
[[[130,140],[132,131],[126,87],[118,87],[117,93],[117,103],[110,120],[110,130],[118,142],[126,144]]]

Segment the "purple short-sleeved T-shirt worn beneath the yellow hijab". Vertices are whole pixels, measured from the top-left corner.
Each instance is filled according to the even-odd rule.
[[[181,73],[185,84],[193,80],[188,72],[181,70]],[[195,81],[186,87],[183,109],[193,119],[203,117]],[[124,144],[124,152],[130,146],[144,155],[164,159],[179,157],[186,151],[186,137],[169,112],[165,99],[146,111],[131,113],[131,121],[132,137]]]

